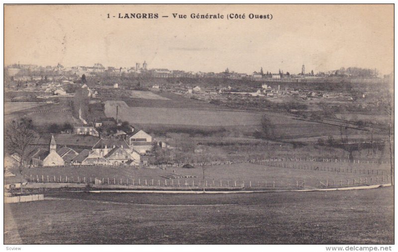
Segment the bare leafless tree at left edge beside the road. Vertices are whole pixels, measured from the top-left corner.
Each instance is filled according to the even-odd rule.
[[[23,170],[26,168],[29,156],[35,151],[35,148],[31,148],[31,145],[38,139],[39,136],[34,130],[32,120],[27,118],[21,118],[17,121],[13,120],[12,123],[8,124],[4,133],[5,148],[10,152],[17,153],[20,157],[19,160],[19,174],[22,193],[22,178]]]

